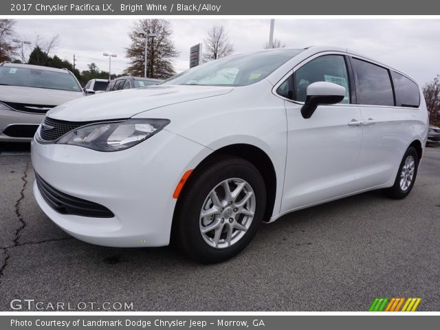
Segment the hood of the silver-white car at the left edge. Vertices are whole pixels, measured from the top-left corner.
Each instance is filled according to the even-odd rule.
[[[60,91],[58,89],[35,87],[0,86],[0,101],[3,102],[59,105],[82,97],[82,91]]]

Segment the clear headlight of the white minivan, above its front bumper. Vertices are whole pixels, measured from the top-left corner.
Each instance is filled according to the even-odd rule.
[[[148,139],[169,123],[168,119],[133,119],[91,124],[67,133],[56,143],[96,151],[120,151]]]

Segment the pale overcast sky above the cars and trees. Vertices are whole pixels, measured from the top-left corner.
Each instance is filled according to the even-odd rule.
[[[87,69],[94,62],[108,71],[108,58],[102,52],[113,52],[111,71],[116,74],[128,66],[125,48],[130,45],[128,32],[133,19],[21,19],[16,32],[22,40],[34,41],[36,34],[50,38],[59,34],[56,54],[77,67]],[[172,19],[173,41],[180,55],[175,58],[176,72],[188,69],[189,48],[203,41],[213,25],[224,25],[235,52],[260,50],[269,36],[269,19]],[[347,47],[377,61],[400,69],[421,85],[440,74],[439,20],[401,19],[276,19],[274,37],[287,47],[336,45]],[[30,50],[28,50],[27,55]]]

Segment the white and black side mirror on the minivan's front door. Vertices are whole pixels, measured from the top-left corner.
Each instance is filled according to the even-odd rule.
[[[336,104],[345,97],[345,87],[325,81],[318,81],[307,87],[307,98],[301,108],[301,115],[308,119],[314,114],[318,105]]]

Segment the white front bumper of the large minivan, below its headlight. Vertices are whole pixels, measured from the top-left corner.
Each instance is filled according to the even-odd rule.
[[[34,183],[34,196],[56,225],[97,245],[168,245],[176,200],[173,192],[186,170],[210,149],[162,130],[124,151],[104,153],[79,146],[32,141],[34,170],[67,195],[105,206],[111,218],[56,212]]]

